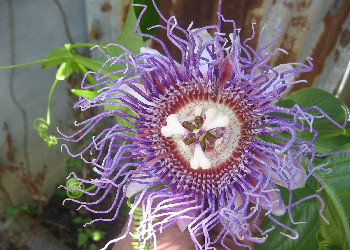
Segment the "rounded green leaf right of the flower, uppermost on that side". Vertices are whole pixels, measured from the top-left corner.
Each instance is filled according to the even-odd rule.
[[[344,123],[345,111],[342,108],[345,107],[344,103],[327,91],[316,88],[305,88],[292,93],[286,98],[286,100],[294,101],[302,109],[317,106],[340,125]],[[279,103],[277,104],[279,105]],[[315,116],[322,115],[317,110],[310,110],[308,113]],[[329,138],[342,135],[345,132],[325,117],[314,119],[313,128],[319,132],[319,138]]]

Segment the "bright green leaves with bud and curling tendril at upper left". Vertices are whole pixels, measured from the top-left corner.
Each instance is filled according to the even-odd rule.
[[[140,2],[147,2],[148,4],[150,1],[138,1]],[[136,9],[136,6],[135,6]],[[148,14],[145,17],[151,16],[151,14]],[[149,19],[147,19],[149,20]],[[140,36],[137,36],[134,33],[134,27],[136,25],[136,15],[134,12],[134,8],[129,8],[129,12],[125,21],[124,29],[119,36],[119,38],[114,41],[115,44],[120,44],[124,46],[125,48],[129,49],[133,53],[139,53],[140,48],[143,46],[143,40]],[[86,74],[88,70],[98,72],[104,61],[105,58],[100,59],[91,59],[88,57],[81,56],[75,52],[75,48],[77,47],[93,47],[94,44],[86,44],[86,43],[77,43],[77,44],[65,44],[63,47],[55,48],[52,50],[48,56],[46,57],[45,61],[42,64],[42,69],[52,67],[54,65],[60,65],[57,73],[56,73],[56,80],[55,83],[51,89],[50,95],[49,95],[49,105],[48,105],[48,111],[47,111],[47,119],[46,121],[42,118],[39,118],[36,120],[40,121],[41,123],[39,125],[36,125],[35,128],[39,131],[40,137],[42,137],[45,142],[51,146],[57,143],[57,140],[54,136],[47,135],[46,131],[48,127],[50,126],[50,103],[51,103],[51,96],[53,93],[53,90],[57,84],[58,81],[62,81],[67,79],[73,72]],[[120,55],[123,50],[117,46],[105,46],[101,45],[101,48],[105,50],[106,53],[110,54],[111,56],[118,56]],[[124,65],[122,64],[114,64],[113,66],[102,68],[101,74],[107,74],[109,71],[116,71],[123,69]],[[95,83],[95,80],[93,77],[89,74],[86,75],[87,80],[90,83]],[[117,76],[113,76],[114,78]],[[86,98],[92,98],[94,97],[97,92],[93,90],[71,90],[73,94],[75,95],[85,95]],[[131,112],[129,109],[126,110],[126,112]],[[127,126],[132,126],[130,123],[126,122],[125,120],[117,120],[118,122],[124,123]]]

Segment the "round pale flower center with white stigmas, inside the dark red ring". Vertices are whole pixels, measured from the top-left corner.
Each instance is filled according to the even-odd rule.
[[[192,169],[211,169],[232,156],[238,145],[240,124],[225,105],[202,101],[170,114],[161,134],[176,142]]]

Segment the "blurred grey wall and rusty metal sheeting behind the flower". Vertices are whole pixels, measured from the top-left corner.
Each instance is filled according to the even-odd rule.
[[[182,27],[193,21],[195,28],[217,23],[217,2],[161,0],[160,9],[167,18],[175,15]],[[43,59],[66,43],[114,41],[129,6],[129,0],[0,0],[0,66]],[[258,33],[265,27],[262,44],[276,36],[280,21],[284,34],[274,48],[289,55],[279,54],[271,64],[312,57],[314,70],[298,77],[307,84],[293,90],[322,88],[350,105],[350,0],[224,0],[222,10],[242,29],[241,40],[252,35],[252,23]],[[257,43],[255,36],[251,46]],[[57,187],[68,173],[90,170],[68,159],[59,144],[49,148],[33,127],[35,118],[46,115],[56,71],[41,70],[40,64],[0,69],[0,249],[97,249],[119,233],[127,217],[124,210],[114,223],[83,228],[91,215],[61,205],[65,193]],[[80,77],[73,75],[54,90],[50,134],[57,135],[57,127],[72,131],[81,115],[73,112],[77,97],[69,91],[79,88]]]

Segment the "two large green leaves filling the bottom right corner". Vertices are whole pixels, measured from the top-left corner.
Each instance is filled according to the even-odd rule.
[[[337,150],[350,150],[350,144],[345,144]],[[269,233],[269,237],[262,245],[257,245],[256,249],[349,249],[350,243],[350,153],[335,154],[322,160],[318,159],[317,165],[324,165],[325,168],[332,169],[331,173],[317,171],[318,176],[324,181],[324,189],[320,194],[325,202],[323,211],[324,217],[329,224],[318,214],[320,203],[316,200],[306,201],[292,209],[293,218],[296,221],[307,222],[305,224],[294,225],[289,221],[287,214],[277,218],[278,221],[288,227],[295,229],[299,233],[298,240],[290,240],[281,237],[279,232],[284,233],[283,228]],[[318,188],[313,179],[309,179],[302,189],[293,191],[293,200],[298,200],[313,193],[322,185],[318,183]],[[288,201],[288,192],[280,187],[284,202]],[[265,220],[263,228],[271,228],[274,223]],[[284,231],[283,231],[284,230]],[[320,237],[316,240],[316,233],[320,232]]]

